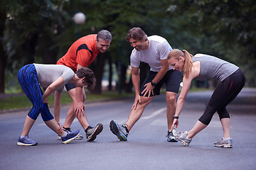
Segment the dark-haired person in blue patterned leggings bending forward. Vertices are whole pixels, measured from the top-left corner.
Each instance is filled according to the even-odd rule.
[[[27,64],[19,70],[18,81],[33,107],[26,116],[17,145],[31,146],[38,144],[38,142],[34,142],[28,137],[28,133],[40,113],[46,125],[61,136],[63,143],[66,144],[78,137],[80,130],[65,132],[62,126],[56,122],[49,111],[47,97],[55,90],[63,91],[63,86],[69,81],[73,82],[75,86],[92,86],[95,84],[95,77],[90,69],[82,68],[74,73],[72,69],[63,65]],[[46,89],[44,93],[40,86]]]

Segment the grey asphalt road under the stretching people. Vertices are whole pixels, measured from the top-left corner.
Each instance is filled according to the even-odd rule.
[[[180,115],[178,130],[190,130],[203,113],[212,91],[191,92]],[[243,89],[228,106],[231,115],[233,148],[213,146],[223,135],[218,115],[208,128],[193,138],[189,147],[166,142],[166,101],[160,95],[146,107],[142,118],[129,132],[127,142],[119,142],[110,132],[110,120],[125,123],[134,98],[122,101],[86,103],[90,125],[102,123],[104,129],[95,142],[73,140],[67,145],[57,140],[41,119],[30,132],[38,142],[34,147],[16,145],[28,111],[0,114],[0,169],[255,169],[256,89]],[[64,123],[68,106],[63,106]],[[53,109],[51,109],[53,111]],[[85,132],[77,120],[72,130]]]

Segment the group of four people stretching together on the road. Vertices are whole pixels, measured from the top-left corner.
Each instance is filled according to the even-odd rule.
[[[215,112],[218,113],[223,127],[223,137],[214,143],[215,147],[233,147],[230,137],[230,115],[226,106],[234,100],[245,85],[245,75],[239,67],[230,62],[205,54],[191,55],[186,50],[172,49],[165,38],[159,35],[147,36],[141,28],[132,28],[125,38],[134,48],[130,55],[132,67],[132,83],[135,99],[131,112],[124,125],[115,120],[110,121],[110,130],[121,141],[127,141],[129,131],[139,120],[146,106],[154,96],[166,88],[167,141],[178,142],[188,146],[193,137],[206,128]],[[99,52],[105,52],[112,41],[108,30],[100,30],[97,35],[87,35],[75,41],[68,52],[58,60],[57,64],[28,64],[18,72],[18,81],[28,96],[33,107],[26,116],[18,145],[37,145],[28,133],[41,113],[46,125],[58,134],[63,143],[82,139],[80,130],[71,131],[70,126],[75,118],[85,130],[88,142],[95,140],[102,132],[103,125],[90,126],[85,116],[83,102],[86,99],[85,88],[89,91],[95,87],[95,75],[87,68],[95,60]],[[140,86],[139,64],[146,62],[150,70]],[[183,77],[182,73],[183,72]],[[181,79],[183,86],[177,99]],[[178,131],[178,117],[185,103],[191,81],[217,79],[220,81],[206,106],[206,109],[189,131]],[[73,102],[68,108],[64,125],[60,125],[61,92],[67,89]],[[42,89],[45,89],[43,92]],[[54,117],[48,108],[47,97],[55,92]]]

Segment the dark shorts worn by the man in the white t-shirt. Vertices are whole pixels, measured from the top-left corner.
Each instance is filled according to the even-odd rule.
[[[144,91],[145,89],[144,85],[151,82],[154,79],[154,77],[156,77],[157,73],[158,72],[149,71],[149,73],[146,75],[146,79],[144,80],[141,86],[139,96],[144,96],[142,95],[142,91]],[[180,87],[180,83],[181,83],[181,72],[171,69],[168,72],[166,72],[164,77],[159,81],[158,84],[156,84],[154,88],[154,95],[151,94],[150,96],[159,95],[161,86],[163,86],[163,84],[165,84],[166,86],[166,91],[174,92],[177,94],[178,89]]]

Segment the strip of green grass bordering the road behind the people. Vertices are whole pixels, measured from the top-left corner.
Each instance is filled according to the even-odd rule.
[[[102,101],[110,99],[124,98],[127,96],[134,96],[134,93],[118,94],[117,91],[104,91],[102,94],[86,94],[86,101]],[[48,97],[49,106],[53,106],[54,95]],[[72,100],[68,93],[63,92],[61,96],[61,104],[71,103]],[[26,95],[14,96],[6,99],[0,99],[0,111],[8,111],[13,109],[31,108],[32,103],[28,100]]]

